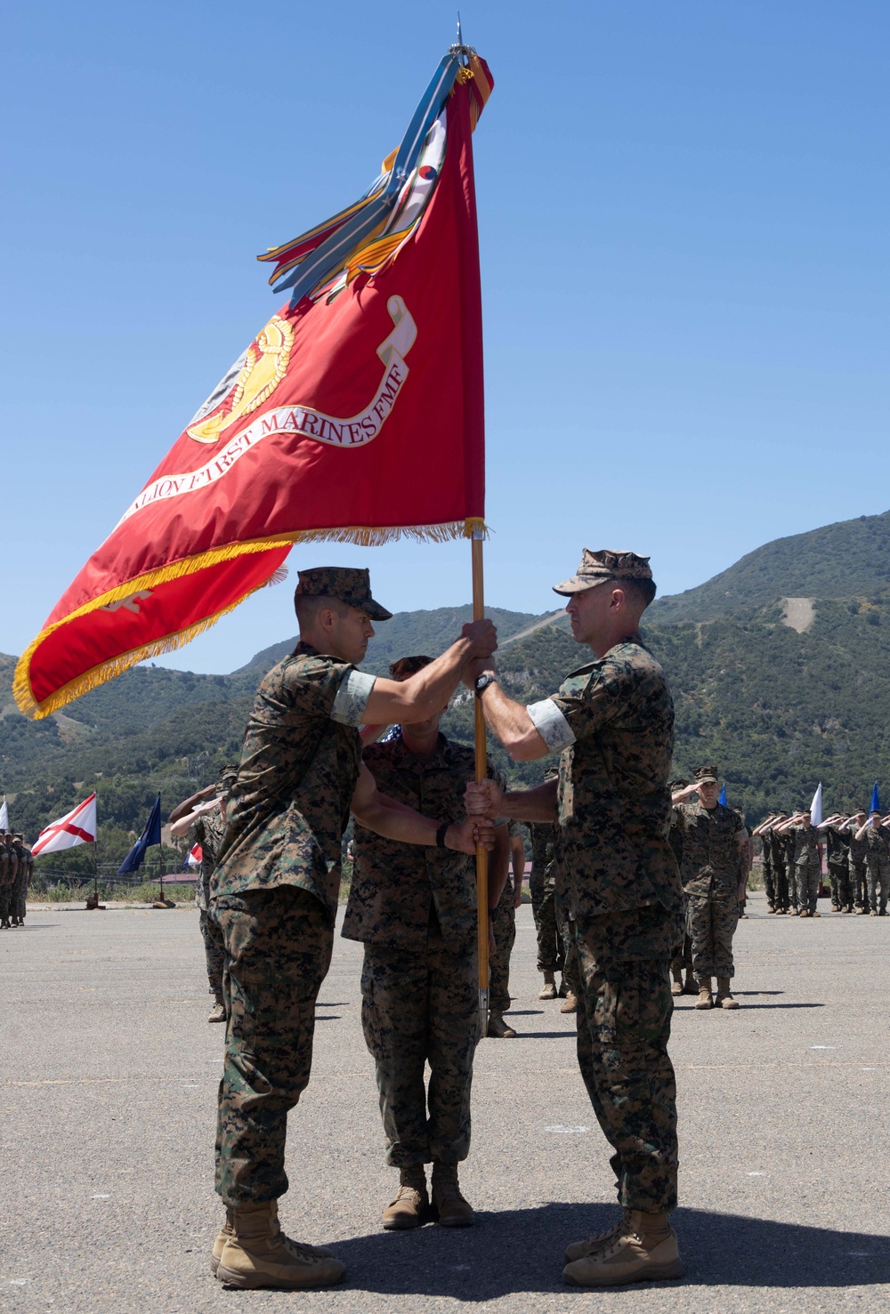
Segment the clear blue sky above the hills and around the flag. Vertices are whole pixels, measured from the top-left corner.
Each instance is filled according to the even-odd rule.
[[[13,4],[0,516],[18,653],[275,306],[256,252],[354,200],[454,37],[439,0]],[[475,137],[490,603],[550,610],[585,544],[663,593],[890,507],[890,9],[847,0],[461,8]],[[297,548],[393,610],[469,549]],[[164,661],[293,632],[263,590]]]

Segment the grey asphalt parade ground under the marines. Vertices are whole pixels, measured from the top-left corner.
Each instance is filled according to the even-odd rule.
[[[380,1230],[383,1159],[360,1029],[362,947],[337,940],[313,1079],[291,1114],[297,1239],[346,1261],[327,1292],[233,1292],[208,1256],[222,1028],[193,909],[29,912],[0,936],[0,1309],[890,1309],[890,918],[739,924],[738,1012],[678,1001],[680,1282],[563,1286],[563,1250],[615,1217],[607,1146],[574,1063],[574,1020],[540,1003],[519,912],[515,1041],[482,1041],[461,1171],[477,1226]]]

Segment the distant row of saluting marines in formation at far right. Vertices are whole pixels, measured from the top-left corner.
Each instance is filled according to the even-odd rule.
[[[890,888],[890,816],[857,808],[814,827],[808,812],[772,812],[753,832],[762,844],[768,912],[818,917],[820,838],[828,850],[832,912],[885,917]]]

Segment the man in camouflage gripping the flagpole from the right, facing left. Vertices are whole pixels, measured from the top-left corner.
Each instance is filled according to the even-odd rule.
[[[668,1212],[677,1202],[676,1083],[668,1056],[669,964],[682,891],[668,842],[673,702],[639,618],[655,595],[648,558],[585,548],[569,598],[572,633],[594,661],[527,708],[477,664],[485,720],[515,759],[560,752],[559,784],[497,795],[471,786],[471,811],[556,823],[556,884],[581,972],[577,1054],[613,1146],[623,1219],[567,1251],[564,1280],[603,1286],[681,1273]],[[479,669],[481,668],[481,669]]]

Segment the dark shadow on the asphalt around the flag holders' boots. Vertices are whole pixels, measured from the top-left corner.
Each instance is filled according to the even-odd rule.
[[[402,1296],[490,1301],[568,1290],[563,1251],[615,1222],[606,1205],[548,1204],[477,1214],[476,1227],[426,1226],[337,1242],[346,1286]],[[890,1282],[886,1236],[680,1209],[682,1281],[705,1286],[870,1286]],[[647,1284],[673,1285],[673,1284]]]

